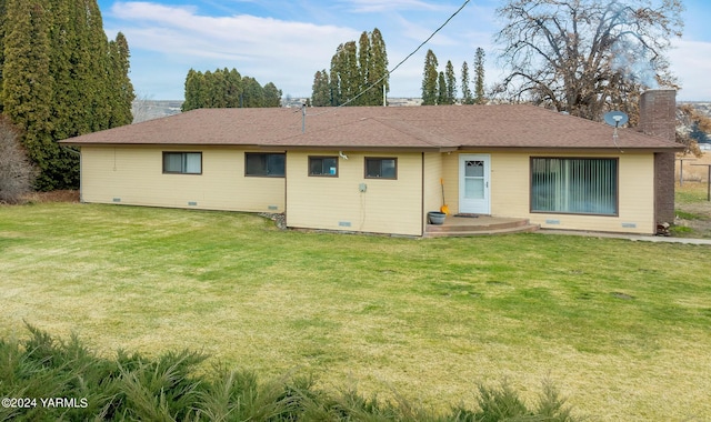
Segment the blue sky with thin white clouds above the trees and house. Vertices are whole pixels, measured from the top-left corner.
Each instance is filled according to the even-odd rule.
[[[107,34],[126,34],[137,94],[180,100],[189,69],[236,68],[284,96],[310,97],[313,74],[328,69],[336,48],[378,28],[394,67],[464,0],[98,0]],[[458,77],[474,50],[487,52],[488,84],[501,70],[492,36],[502,27],[498,0],[470,0],[427,46],[390,78],[391,97],[419,97],[424,54],[432,49]],[[684,34],[670,52],[680,100],[711,101],[711,2],[685,0]]]

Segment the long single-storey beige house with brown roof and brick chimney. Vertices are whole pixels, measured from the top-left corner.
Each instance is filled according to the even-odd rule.
[[[527,104],[201,109],[62,141],[81,200],[286,213],[297,229],[421,237],[427,214],[655,233],[673,221],[675,91],[635,129]]]

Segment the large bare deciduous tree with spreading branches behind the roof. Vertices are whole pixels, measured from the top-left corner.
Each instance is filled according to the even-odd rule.
[[[508,0],[497,34],[508,77],[495,91],[591,120],[624,110],[634,122],[641,90],[675,84],[664,54],[682,10],[680,0]]]

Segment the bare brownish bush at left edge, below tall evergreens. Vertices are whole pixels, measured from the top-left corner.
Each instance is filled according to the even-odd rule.
[[[0,118],[0,203],[18,203],[32,190],[36,171],[22,147],[18,130]]]

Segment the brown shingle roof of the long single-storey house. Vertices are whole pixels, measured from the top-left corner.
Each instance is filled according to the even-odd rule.
[[[71,138],[62,143],[274,148],[678,149],[633,129],[613,129],[539,107],[438,105],[200,109]]]

